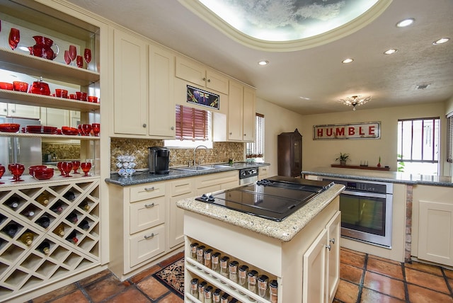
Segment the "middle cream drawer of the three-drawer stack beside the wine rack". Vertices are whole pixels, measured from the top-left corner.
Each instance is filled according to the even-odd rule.
[[[165,222],[165,197],[132,203],[130,211],[130,234],[155,227]]]

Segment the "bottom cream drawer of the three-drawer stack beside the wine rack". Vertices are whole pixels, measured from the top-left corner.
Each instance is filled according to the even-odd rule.
[[[165,251],[164,224],[147,229],[129,238],[130,267],[147,261]]]

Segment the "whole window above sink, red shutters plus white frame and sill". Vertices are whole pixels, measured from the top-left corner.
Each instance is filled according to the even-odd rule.
[[[212,147],[211,112],[189,106],[176,105],[176,131],[174,140],[164,140],[166,147]]]

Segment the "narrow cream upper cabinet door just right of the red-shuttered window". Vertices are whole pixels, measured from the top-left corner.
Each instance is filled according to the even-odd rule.
[[[242,141],[243,129],[243,85],[229,81],[228,96],[228,139]]]

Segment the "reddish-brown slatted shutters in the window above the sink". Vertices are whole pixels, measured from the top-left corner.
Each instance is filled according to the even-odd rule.
[[[210,112],[176,105],[176,139],[206,141],[209,139]]]

